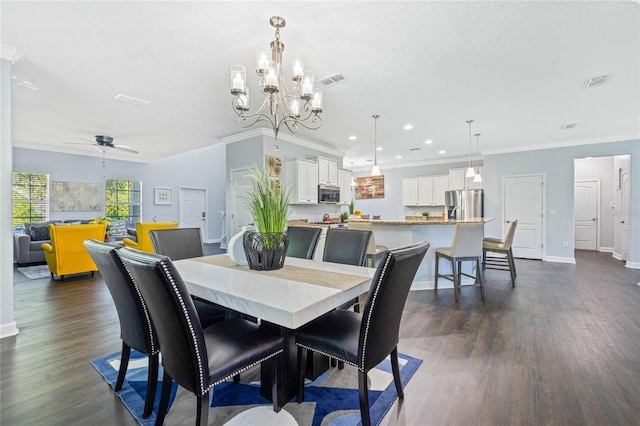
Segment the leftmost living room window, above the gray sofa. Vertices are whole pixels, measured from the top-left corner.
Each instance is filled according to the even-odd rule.
[[[12,226],[49,218],[49,175],[44,173],[13,173]]]

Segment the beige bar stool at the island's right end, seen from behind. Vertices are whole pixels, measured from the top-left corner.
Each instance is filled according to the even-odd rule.
[[[458,302],[460,293],[460,279],[462,275],[474,278],[480,284],[480,298],[484,302],[484,287],[480,271],[480,258],[482,257],[482,237],[484,234],[483,223],[457,223],[453,232],[453,242],[451,247],[441,247],[436,249],[436,270],[435,289],[438,290],[438,278],[442,277],[453,281],[454,294]],[[443,257],[451,262],[451,275],[438,273],[440,258]],[[469,275],[462,272],[462,262],[475,261],[476,275]]]

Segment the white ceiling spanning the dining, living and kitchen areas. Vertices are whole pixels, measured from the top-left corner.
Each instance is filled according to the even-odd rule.
[[[348,78],[324,89],[322,127],[297,134],[344,152],[346,166],[373,159],[372,114],[383,168],[468,158],[469,119],[484,155],[640,137],[636,2],[2,1],[0,13],[3,56],[23,55],[17,147],[100,156],[68,143],[103,134],[140,151],[109,157],[152,161],[245,131],[229,68],[254,69],[273,15],[287,21],[287,73],[298,54],[318,78]],[[583,88],[603,74],[605,85]]]

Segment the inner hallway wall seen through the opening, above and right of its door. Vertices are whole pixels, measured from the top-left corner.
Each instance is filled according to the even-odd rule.
[[[600,181],[600,248],[613,250],[613,157],[577,159],[574,163],[576,180]]]

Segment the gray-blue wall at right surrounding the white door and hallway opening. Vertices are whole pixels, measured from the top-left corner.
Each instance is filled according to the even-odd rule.
[[[640,141],[600,143],[536,151],[486,155],[484,157],[485,216],[497,220],[487,224],[489,235],[502,233],[502,177],[542,173],[546,179],[546,255],[574,258],[573,182],[574,160],[584,157],[631,155],[631,241],[629,260],[640,267]],[[557,215],[550,216],[549,210]],[[562,247],[562,241],[570,241]]]

